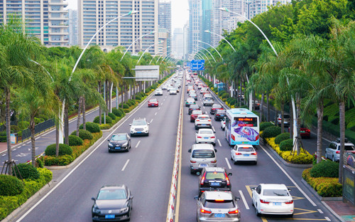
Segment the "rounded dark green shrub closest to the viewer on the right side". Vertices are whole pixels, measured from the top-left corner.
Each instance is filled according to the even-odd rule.
[[[322,161],[312,167],[310,176],[339,178],[339,164],[332,161]]]

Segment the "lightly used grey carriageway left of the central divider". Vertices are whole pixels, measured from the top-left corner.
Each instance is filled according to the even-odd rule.
[[[143,104],[115,132],[129,132],[133,117],[146,117],[153,120],[149,137],[132,137],[131,150],[122,153],[108,153],[105,140],[23,221],[90,221],[90,198],[104,184],[129,186],[134,196],[131,221],[165,220],[179,105],[180,94],[168,95],[160,110]],[[170,127],[162,129],[165,125]]]

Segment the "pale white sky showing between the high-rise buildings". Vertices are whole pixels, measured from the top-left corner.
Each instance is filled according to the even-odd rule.
[[[168,0],[165,0],[168,1]],[[189,5],[187,0],[170,0],[171,1],[171,28],[183,28],[185,23],[189,20]],[[67,0],[68,9],[77,10],[77,0]]]

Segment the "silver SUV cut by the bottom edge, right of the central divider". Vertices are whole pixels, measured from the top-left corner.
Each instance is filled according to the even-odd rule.
[[[205,191],[197,200],[197,221],[199,222],[235,222],[241,220],[236,201],[231,191]]]

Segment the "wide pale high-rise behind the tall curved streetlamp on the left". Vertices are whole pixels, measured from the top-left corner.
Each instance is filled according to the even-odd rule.
[[[129,11],[138,13],[111,21]],[[78,0],[78,21],[80,46],[86,46],[94,33],[109,21],[92,45],[128,48],[138,39],[129,49],[136,54],[158,42],[158,0]],[[148,50],[148,53],[156,52],[156,46]]]

